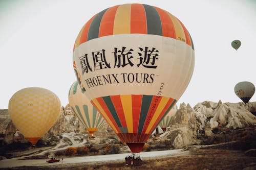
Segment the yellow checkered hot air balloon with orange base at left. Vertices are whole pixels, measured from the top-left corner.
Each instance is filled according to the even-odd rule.
[[[45,88],[24,88],[9,100],[13,124],[33,145],[54,125],[60,111],[58,96]]]

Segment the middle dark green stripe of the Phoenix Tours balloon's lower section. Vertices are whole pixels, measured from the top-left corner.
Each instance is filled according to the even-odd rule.
[[[148,109],[150,109],[152,99],[153,99],[153,95],[142,95],[138,133],[142,132],[142,129],[146,120],[146,116],[148,113]]]

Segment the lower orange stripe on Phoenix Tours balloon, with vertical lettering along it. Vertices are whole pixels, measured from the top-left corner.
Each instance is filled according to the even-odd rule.
[[[152,102],[151,102],[151,105],[150,105],[150,109],[148,109],[148,113],[147,113],[145,123],[144,123],[143,129],[142,129],[142,133],[145,133],[147,127],[150,125],[150,122],[151,122],[151,120],[152,120],[152,118],[153,118],[153,116],[154,116],[154,114],[157,110],[157,107],[158,107],[161,99],[162,99],[162,96],[156,96],[156,95],[153,96]]]

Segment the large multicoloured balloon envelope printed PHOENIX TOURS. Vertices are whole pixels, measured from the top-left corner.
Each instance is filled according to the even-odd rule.
[[[73,67],[81,88],[119,139],[139,153],[185,91],[194,45],[183,23],[145,4],[94,15],[79,32]]]

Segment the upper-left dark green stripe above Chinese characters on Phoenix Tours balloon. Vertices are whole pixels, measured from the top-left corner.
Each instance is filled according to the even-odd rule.
[[[99,12],[93,19],[89,31],[88,31],[88,37],[87,37],[87,41],[94,39],[94,38],[98,38],[99,37],[99,27],[100,27],[100,22],[102,19],[102,16],[104,15],[104,13],[106,12],[105,9],[101,12]]]

